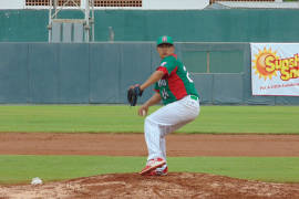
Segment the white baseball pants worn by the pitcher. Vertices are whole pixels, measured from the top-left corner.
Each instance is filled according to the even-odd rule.
[[[187,95],[148,115],[144,122],[147,160],[162,157],[166,161],[165,136],[194,121],[198,114],[199,101]]]

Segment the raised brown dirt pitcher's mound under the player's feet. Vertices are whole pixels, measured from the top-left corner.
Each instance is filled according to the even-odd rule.
[[[111,174],[47,182],[0,186],[0,198],[299,198],[298,184],[171,172],[164,177]]]

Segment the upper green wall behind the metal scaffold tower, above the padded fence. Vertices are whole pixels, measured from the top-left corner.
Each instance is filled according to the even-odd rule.
[[[62,18],[83,18],[66,10]],[[169,34],[177,42],[299,42],[293,9],[96,10],[95,41],[155,41]],[[48,10],[0,10],[0,42],[48,41]]]

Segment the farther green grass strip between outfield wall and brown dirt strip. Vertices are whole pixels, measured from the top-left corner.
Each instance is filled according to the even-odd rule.
[[[159,106],[151,108],[151,113]],[[299,106],[202,106],[178,133],[299,134]],[[0,106],[0,132],[142,133],[137,107]]]

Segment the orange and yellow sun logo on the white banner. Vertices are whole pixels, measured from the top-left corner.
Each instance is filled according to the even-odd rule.
[[[279,60],[279,56],[276,55],[277,52],[272,52],[271,49],[267,50],[266,48],[264,48],[264,50],[259,50],[258,54],[255,54],[255,60],[254,62],[254,66],[252,69],[256,70],[255,74],[259,75],[259,78],[262,78],[266,81],[267,77],[269,77],[269,80],[272,78],[272,76],[277,76],[276,74],[276,70],[275,71],[270,71],[267,70],[269,69],[269,66],[267,66],[267,59],[269,60]]]

